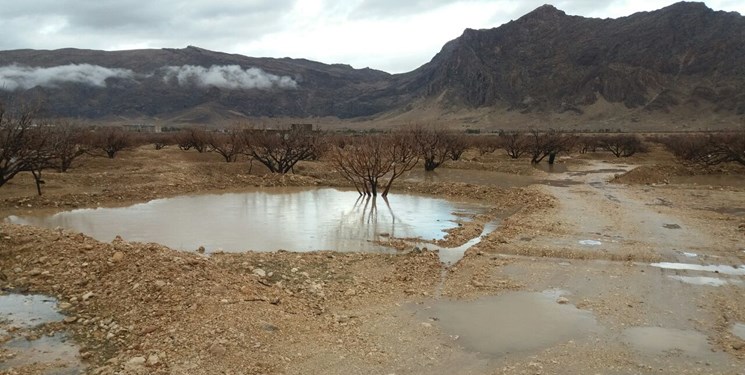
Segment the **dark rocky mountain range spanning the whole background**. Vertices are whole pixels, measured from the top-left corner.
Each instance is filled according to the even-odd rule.
[[[8,96],[41,99],[52,116],[92,119],[731,125],[745,119],[743,41],[745,17],[703,3],[618,19],[544,5],[467,29],[404,74],[196,47],[62,49],[0,51],[0,82]]]

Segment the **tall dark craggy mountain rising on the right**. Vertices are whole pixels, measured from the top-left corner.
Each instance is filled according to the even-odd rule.
[[[490,30],[466,30],[415,72],[424,95],[582,112],[599,98],[667,111],[715,104],[745,113],[745,17],[678,3],[619,19],[544,5]]]

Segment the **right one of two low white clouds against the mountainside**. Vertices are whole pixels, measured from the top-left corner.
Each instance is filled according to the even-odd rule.
[[[258,68],[242,69],[238,65],[213,65],[209,68],[194,65],[168,66],[163,68],[166,82],[177,82],[181,86],[215,86],[224,89],[294,89],[297,82],[288,76],[269,74]]]

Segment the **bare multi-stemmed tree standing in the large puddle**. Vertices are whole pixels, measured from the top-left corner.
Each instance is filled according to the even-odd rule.
[[[360,195],[367,196],[376,196],[382,181],[382,196],[387,197],[393,181],[414,168],[419,159],[414,134],[409,131],[350,138],[332,150],[335,169]]]

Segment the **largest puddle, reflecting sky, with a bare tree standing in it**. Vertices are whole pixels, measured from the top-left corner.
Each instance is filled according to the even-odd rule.
[[[389,204],[387,204],[389,203]],[[182,196],[123,208],[82,209],[7,221],[83,232],[100,241],[157,242],[209,251],[336,250],[394,252],[372,243],[387,238],[441,239],[473,203],[395,194],[368,199],[354,191],[279,188]]]

